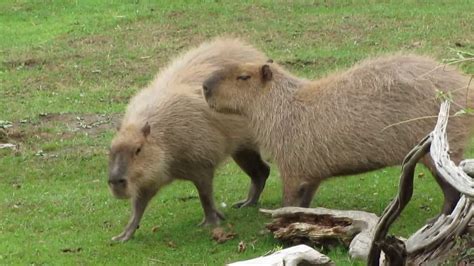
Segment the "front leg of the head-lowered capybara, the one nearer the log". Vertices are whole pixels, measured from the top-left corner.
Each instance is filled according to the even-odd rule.
[[[194,185],[198,190],[199,199],[201,200],[201,205],[204,210],[204,219],[199,223],[200,226],[217,225],[221,220],[224,220],[224,215],[217,210],[216,205],[214,204],[212,177],[213,173],[211,172],[207,176],[204,176],[203,179],[194,181]]]

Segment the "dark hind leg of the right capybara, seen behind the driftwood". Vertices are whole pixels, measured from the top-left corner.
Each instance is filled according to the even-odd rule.
[[[453,158],[453,160],[455,160],[455,158]],[[436,167],[431,157],[429,157],[428,155],[425,156],[423,158],[423,164],[425,164],[426,167],[428,167],[430,172],[435,177],[436,182],[438,183],[441,190],[443,191],[444,203],[443,203],[442,213],[446,215],[450,214],[454,210],[454,207],[456,207],[456,204],[459,201],[459,198],[460,198],[459,192],[453,186],[451,186],[448,182],[446,182],[444,179],[441,178],[438,171],[436,171]]]

